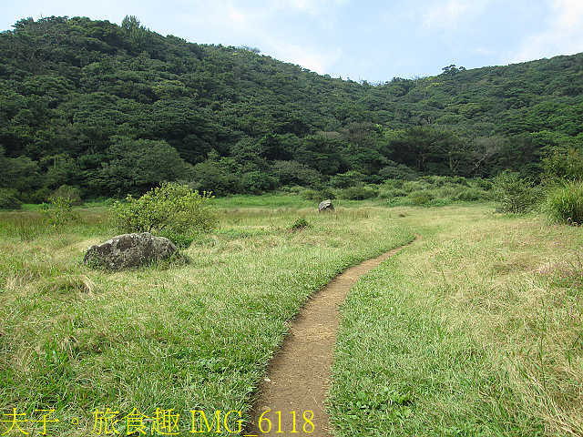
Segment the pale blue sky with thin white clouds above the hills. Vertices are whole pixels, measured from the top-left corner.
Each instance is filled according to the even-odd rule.
[[[135,15],[163,36],[257,47],[372,84],[583,52],[583,0],[0,0],[0,10],[0,31],[29,16]]]

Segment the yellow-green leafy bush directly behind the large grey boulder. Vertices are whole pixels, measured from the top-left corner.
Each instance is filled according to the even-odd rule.
[[[198,191],[187,186],[164,183],[149,190],[141,198],[128,196],[125,203],[117,202],[110,208],[110,220],[121,232],[186,236],[184,241],[179,241],[184,246],[197,233],[217,226],[216,212],[210,205],[206,205],[210,198],[207,192],[199,195]]]

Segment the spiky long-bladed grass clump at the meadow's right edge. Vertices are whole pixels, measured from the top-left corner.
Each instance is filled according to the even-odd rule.
[[[545,211],[555,223],[583,224],[583,181],[566,182],[547,196]]]

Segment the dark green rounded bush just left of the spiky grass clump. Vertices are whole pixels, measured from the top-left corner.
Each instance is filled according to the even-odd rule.
[[[494,178],[494,195],[504,212],[529,212],[537,206],[541,194],[530,178],[519,178],[518,173],[506,170]]]

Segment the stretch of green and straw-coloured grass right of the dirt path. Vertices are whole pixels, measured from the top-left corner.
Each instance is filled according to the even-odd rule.
[[[343,306],[339,435],[583,435],[580,229],[416,209]]]

